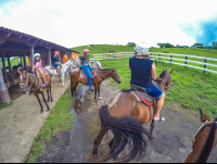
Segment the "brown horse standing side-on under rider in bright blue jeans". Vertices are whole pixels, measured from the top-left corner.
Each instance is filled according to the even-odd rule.
[[[112,77],[117,84],[120,84],[119,75],[115,70],[98,70],[97,76],[92,78],[92,85],[94,86],[94,100],[98,102],[97,94],[100,97],[100,85],[103,80]],[[76,96],[76,88],[78,84],[88,85],[88,78],[80,78],[80,70],[71,74],[71,92],[72,97]]]

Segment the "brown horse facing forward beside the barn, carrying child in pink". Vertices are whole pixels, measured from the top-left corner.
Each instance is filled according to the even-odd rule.
[[[43,89],[42,89],[42,80],[39,77],[39,75],[37,74],[30,74],[28,73],[30,71],[30,68],[27,68],[26,71],[21,72],[20,70],[17,70],[17,73],[20,74],[20,87],[23,90],[23,93],[26,93],[25,88],[27,86],[30,86],[29,90],[29,94],[34,93],[36,96],[36,98],[38,99],[38,102],[40,104],[41,111],[40,113],[43,113],[43,106],[41,105],[41,101],[39,99],[39,93],[42,96],[43,102],[47,105],[47,112],[50,112],[50,108],[44,99],[44,93],[43,93]],[[50,73],[44,73],[46,74],[46,78],[47,78],[47,94],[48,94],[48,102],[51,99],[51,102],[53,102],[53,98],[51,94],[51,74]],[[50,91],[50,97],[49,97],[49,91]]]

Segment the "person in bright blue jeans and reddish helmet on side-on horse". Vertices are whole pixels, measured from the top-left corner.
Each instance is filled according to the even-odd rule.
[[[89,52],[90,51],[88,49],[84,50],[84,54],[80,58],[79,67],[82,64],[82,70],[86,73],[86,75],[88,76],[89,90],[93,91],[93,89],[91,88],[92,75],[91,75],[90,71],[92,70],[92,65],[90,64],[90,61],[89,61],[89,58],[88,58]]]

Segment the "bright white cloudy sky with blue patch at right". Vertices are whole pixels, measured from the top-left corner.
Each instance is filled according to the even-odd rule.
[[[216,0],[0,0],[0,26],[73,48],[217,41]]]

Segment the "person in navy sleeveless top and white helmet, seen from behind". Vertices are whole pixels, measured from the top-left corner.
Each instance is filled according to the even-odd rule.
[[[159,114],[164,104],[165,94],[164,92],[152,81],[156,79],[155,64],[150,60],[149,48],[140,43],[135,48],[135,56],[129,60],[129,67],[131,70],[131,81],[130,84],[143,87],[146,92],[157,98],[157,111],[154,115],[154,121],[161,121]],[[162,117],[162,121],[165,121]]]

